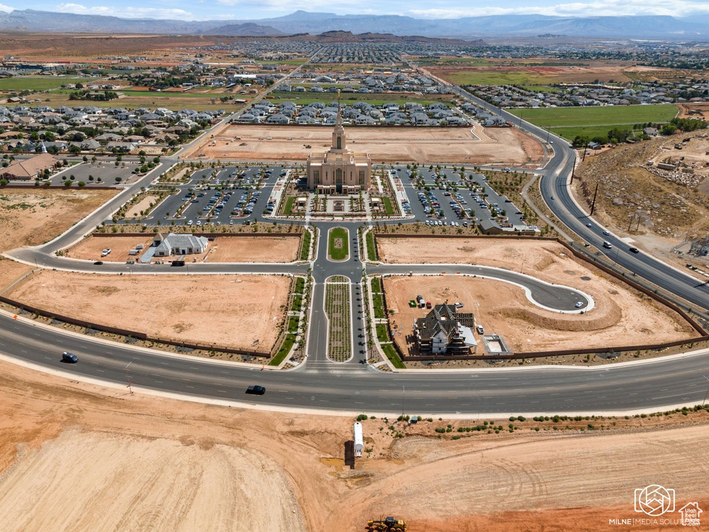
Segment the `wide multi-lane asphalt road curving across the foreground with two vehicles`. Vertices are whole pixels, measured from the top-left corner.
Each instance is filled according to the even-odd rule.
[[[406,414],[571,414],[666,409],[701,403],[709,357],[657,359],[643,365],[523,368],[470,372],[379,372],[330,365],[313,371],[259,371],[210,360],[96,343],[0,315],[0,352],[52,370],[192,397],[274,407]],[[62,351],[79,362],[61,362]],[[245,394],[251,384],[267,392]],[[406,390],[404,390],[406,388]]]

